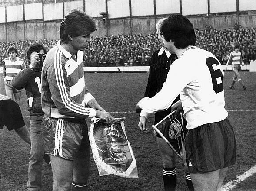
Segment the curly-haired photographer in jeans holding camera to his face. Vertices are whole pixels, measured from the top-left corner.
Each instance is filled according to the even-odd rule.
[[[13,87],[25,87],[30,111],[30,139],[31,150],[28,167],[27,189],[29,191],[41,189],[42,160],[50,165],[50,156],[44,155],[41,122],[44,112],[41,106],[41,70],[43,58],[47,53],[43,45],[35,43],[27,50],[27,59],[30,62],[20,71],[12,81]]]

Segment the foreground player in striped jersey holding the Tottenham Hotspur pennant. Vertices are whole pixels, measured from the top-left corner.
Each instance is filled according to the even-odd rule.
[[[82,51],[95,30],[90,16],[71,11],[60,23],[60,41],[43,63],[42,133],[45,152],[51,155],[53,191],[87,190],[90,143],[85,119],[114,120],[85,84]]]

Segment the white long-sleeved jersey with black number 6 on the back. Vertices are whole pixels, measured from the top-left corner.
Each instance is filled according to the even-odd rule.
[[[163,88],[154,97],[144,97],[139,107],[148,113],[166,110],[180,94],[187,129],[224,120],[223,69],[210,52],[188,48],[170,66]]]

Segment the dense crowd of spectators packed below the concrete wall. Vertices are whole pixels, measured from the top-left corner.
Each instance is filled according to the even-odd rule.
[[[240,46],[245,64],[256,59],[256,28],[235,24],[232,29],[216,30],[206,26],[204,30],[196,29],[195,32],[196,45],[213,52],[222,64],[226,64],[235,44]],[[84,51],[85,66],[149,65],[151,55],[161,46],[156,33],[102,36],[94,37],[92,41]],[[18,49],[18,56],[27,64],[26,51],[35,42],[43,44],[48,51],[57,40],[0,42],[0,64],[3,65],[3,59],[8,57],[10,46]]]

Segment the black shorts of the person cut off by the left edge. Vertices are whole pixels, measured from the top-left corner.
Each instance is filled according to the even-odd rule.
[[[19,105],[13,100],[0,101],[0,129],[7,126],[7,129],[19,129],[25,126]]]

